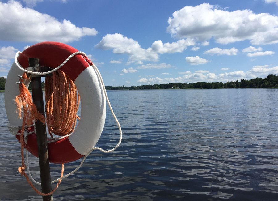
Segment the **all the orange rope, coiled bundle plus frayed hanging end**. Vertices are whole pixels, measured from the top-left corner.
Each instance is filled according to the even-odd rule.
[[[47,122],[49,134],[66,135],[74,131],[76,125],[77,111],[80,103],[80,97],[77,92],[77,88],[74,82],[62,71],[55,71],[52,73],[52,77],[46,77],[45,79],[45,110],[46,118],[37,111],[36,105],[32,101],[31,94],[24,83],[19,84],[20,94],[16,96],[15,103],[17,105],[17,112],[19,118],[21,118],[21,108],[23,107],[23,122],[20,134],[20,148],[21,148],[21,167],[18,171],[21,175],[24,175],[29,185],[35,190],[35,192],[42,196],[48,196],[53,194],[61,179],[57,183],[56,187],[49,193],[42,193],[32,184],[29,177],[25,173],[24,162],[24,130],[25,125],[30,126],[34,120],[39,120],[43,123]],[[24,79],[29,79],[26,73],[23,74]],[[64,164],[62,164],[61,177],[64,174]]]

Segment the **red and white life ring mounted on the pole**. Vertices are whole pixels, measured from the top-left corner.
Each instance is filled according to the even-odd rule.
[[[56,68],[71,54],[78,50],[58,42],[42,42],[25,49],[17,58],[23,68],[29,66],[28,58],[39,58],[40,66]],[[81,101],[81,116],[74,132],[56,142],[48,142],[49,161],[51,163],[69,163],[78,160],[95,146],[103,131],[106,116],[106,100],[104,89],[91,61],[78,54],[70,58],[59,70],[65,72],[76,85]],[[18,119],[15,96],[19,95],[16,83],[22,71],[15,62],[7,75],[5,85],[5,107],[7,118],[13,133],[20,131],[22,120]],[[33,128],[31,128],[33,129]],[[16,135],[20,141],[20,135]],[[38,157],[36,133],[27,136],[25,148]]]

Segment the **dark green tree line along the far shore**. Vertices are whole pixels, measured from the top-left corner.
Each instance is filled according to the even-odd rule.
[[[6,78],[0,77],[0,90],[5,90]],[[42,82],[44,90],[44,82]],[[218,89],[218,88],[278,88],[278,75],[267,75],[266,78],[242,79],[234,82],[196,82],[196,83],[169,83],[169,84],[148,84],[140,86],[105,86],[106,90],[132,90],[132,89]],[[29,88],[30,89],[30,88]]]

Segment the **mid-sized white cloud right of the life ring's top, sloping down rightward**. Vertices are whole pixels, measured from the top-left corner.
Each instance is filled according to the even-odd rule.
[[[128,64],[158,60],[158,54],[154,53],[151,48],[143,49],[137,41],[119,33],[107,34],[95,47],[103,50],[113,49],[113,53],[129,55]]]

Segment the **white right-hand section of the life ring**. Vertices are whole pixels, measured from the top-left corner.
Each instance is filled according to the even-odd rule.
[[[74,81],[80,95],[81,116],[69,140],[81,155],[91,151],[104,127],[106,100],[100,83],[100,78],[92,66],[82,71]]]

